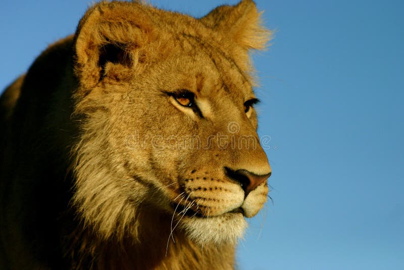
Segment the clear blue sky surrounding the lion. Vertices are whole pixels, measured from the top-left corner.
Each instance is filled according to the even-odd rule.
[[[237,1],[150,0],[202,16]],[[4,1],[0,88],[90,1]],[[258,0],[276,30],[255,54],[273,174],[240,269],[404,269],[404,1]]]

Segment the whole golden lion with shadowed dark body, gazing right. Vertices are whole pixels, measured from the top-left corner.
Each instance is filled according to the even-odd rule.
[[[232,269],[267,201],[250,0],[90,7],[0,99],[2,269]]]

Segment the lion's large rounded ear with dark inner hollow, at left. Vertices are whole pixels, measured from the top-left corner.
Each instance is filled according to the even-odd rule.
[[[129,5],[130,4],[130,5]],[[124,79],[145,61],[154,27],[134,3],[100,3],[87,11],[75,35],[75,73],[87,89],[104,78]]]

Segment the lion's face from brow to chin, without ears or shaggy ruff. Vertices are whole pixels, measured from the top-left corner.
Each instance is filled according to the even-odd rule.
[[[217,57],[222,67],[204,53],[182,52],[145,74],[156,85],[144,85],[145,90],[132,81],[133,103],[121,116],[127,113],[133,128],[128,132],[121,123],[117,128],[125,126],[120,133],[127,134],[129,175],[140,171],[141,178],[152,181],[151,193],[159,189],[165,197],[145,200],[175,211],[192,236],[227,239],[241,234],[243,215],[254,216],[268,193],[266,177],[247,191],[254,179],[235,171],[269,176],[271,168],[249,104],[255,101],[251,85],[231,62]]]

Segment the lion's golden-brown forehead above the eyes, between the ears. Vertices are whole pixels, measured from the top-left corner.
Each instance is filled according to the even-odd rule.
[[[241,70],[219,44],[208,45],[192,38],[173,42],[176,44],[172,46],[164,77],[160,80],[165,85],[162,87],[186,88],[201,97],[230,95],[236,100],[254,97],[250,75]],[[161,62],[158,65],[161,66]]]

